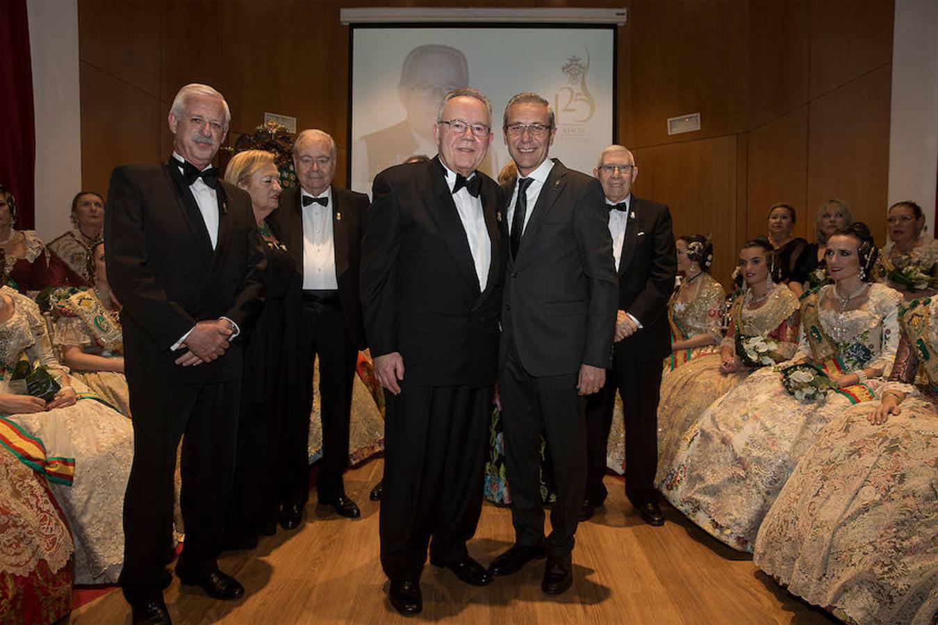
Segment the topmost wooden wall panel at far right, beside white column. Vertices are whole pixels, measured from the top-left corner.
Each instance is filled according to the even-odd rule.
[[[892,61],[892,0],[811,0],[811,99]]]

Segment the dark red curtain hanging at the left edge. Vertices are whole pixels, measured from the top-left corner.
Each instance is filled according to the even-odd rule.
[[[35,225],[36,128],[26,0],[0,0],[0,185],[16,197],[18,228]]]

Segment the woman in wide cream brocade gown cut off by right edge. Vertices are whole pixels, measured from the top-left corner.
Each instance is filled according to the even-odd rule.
[[[847,622],[938,613],[938,300],[904,307],[900,323],[882,401],[827,424],[756,537],[756,566]]]

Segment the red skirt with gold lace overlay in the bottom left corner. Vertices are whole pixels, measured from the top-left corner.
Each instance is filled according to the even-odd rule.
[[[29,444],[0,422],[0,441]],[[0,444],[0,622],[46,625],[71,611],[68,525],[45,476]]]

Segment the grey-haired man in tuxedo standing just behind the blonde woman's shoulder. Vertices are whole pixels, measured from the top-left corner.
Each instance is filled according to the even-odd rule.
[[[323,460],[316,474],[319,502],[349,518],[361,515],[345,494],[349,418],[359,348],[365,344],[358,291],[361,224],[368,196],[332,186],[336,142],[318,129],[296,136],[294,167],[299,186],[280,194],[271,217],[284,233],[299,280],[288,296],[296,323],[294,375],[284,424],[280,525],[299,525],[310,497],[307,452],[312,411],[312,368],[319,356]]]

